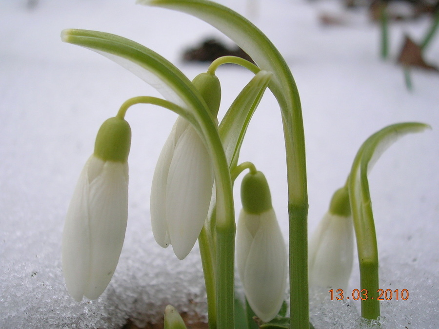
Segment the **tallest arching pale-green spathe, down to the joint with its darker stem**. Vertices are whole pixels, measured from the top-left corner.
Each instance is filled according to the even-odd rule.
[[[260,69],[272,72],[270,90],[277,98],[285,129],[290,196],[306,199],[304,134],[299,93],[285,60],[273,43],[249,20],[231,9],[207,0],[138,0],[140,4],[178,10],[202,19],[235,41]],[[294,132],[293,132],[294,131]],[[293,137],[294,136],[294,137]]]

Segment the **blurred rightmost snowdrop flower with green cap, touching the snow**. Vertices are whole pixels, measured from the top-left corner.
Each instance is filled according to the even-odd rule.
[[[353,220],[346,188],[331,200],[308,246],[311,287],[346,290],[354,259]]]

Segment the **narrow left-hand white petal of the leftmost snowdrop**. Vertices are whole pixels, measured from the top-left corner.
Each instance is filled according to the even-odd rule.
[[[82,300],[90,270],[87,173],[92,158],[82,169],[62,232],[62,272],[67,290],[76,301]]]

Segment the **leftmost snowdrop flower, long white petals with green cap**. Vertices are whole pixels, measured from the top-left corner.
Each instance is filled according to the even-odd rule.
[[[106,120],[85,163],[62,234],[62,271],[77,301],[97,299],[119,261],[128,207],[131,130],[119,117]]]

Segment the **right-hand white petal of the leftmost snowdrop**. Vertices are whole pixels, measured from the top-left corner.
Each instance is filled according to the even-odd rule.
[[[98,298],[113,276],[125,239],[127,216],[128,164],[106,161],[89,187],[91,257],[84,292],[87,298]]]

